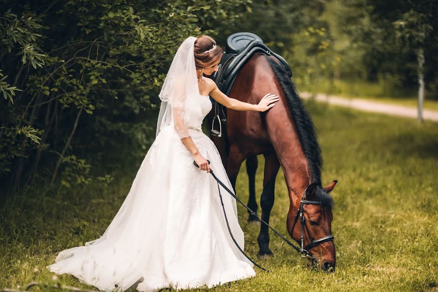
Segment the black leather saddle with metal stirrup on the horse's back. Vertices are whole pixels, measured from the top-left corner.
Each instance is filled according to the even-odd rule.
[[[233,87],[234,80],[237,73],[246,64],[246,62],[255,53],[263,53],[272,55],[286,68],[289,78],[292,77],[292,71],[288,62],[270,50],[262,41],[260,37],[252,33],[235,33],[227,38],[225,52],[223,52],[222,59],[218,65],[219,70],[215,72],[212,79],[218,85],[220,91],[228,95]],[[226,126],[227,111],[224,106],[216,102],[210,97],[210,100],[215,109],[215,117],[211,128],[211,135],[222,136],[222,123]],[[215,120],[219,120],[219,131],[214,128]]]

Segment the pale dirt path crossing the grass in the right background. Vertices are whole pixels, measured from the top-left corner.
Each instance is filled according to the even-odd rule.
[[[300,96],[302,98],[310,98],[311,93],[301,92]],[[412,108],[412,107],[404,107],[404,106],[398,106],[393,104],[374,102],[371,100],[361,99],[361,98],[339,97],[335,95],[327,95],[322,93],[316,94],[316,100],[321,102],[327,102],[330,105],[343,106],[357,110],[417,118],[417,108]],[[423,119],[438,122],[438,110],[423,109]]]

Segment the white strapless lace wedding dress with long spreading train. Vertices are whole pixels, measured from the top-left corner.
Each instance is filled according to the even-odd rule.
[[[198,98],[199,107],[186,121],[188,131],[219,180],[233,190],[216,146],[201,130],[212,104],[208,96]],[[175,128],[162,128],[102,237],[61,251],[47,268],[107,292],[135,287],[139,279],[138,291],[157,291],[211,288],[254,276],[253,264],[228,232],[217,182],[193,161]],[[243,250],[236,200],[222,186],[220,192]]]

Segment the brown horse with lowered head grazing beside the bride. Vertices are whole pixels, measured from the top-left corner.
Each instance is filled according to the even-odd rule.
[[[222,137],[211,137],[211,139],[219,150],[235,191],[240,165],[246,159],[250,190],[248,206],[253,211],[257,209],[256,155],[263,154],[265,169],[260,206],[261,219],[267,223],[274,205],[275,178],[280,166],[282,167],[290,199],[287,230],[301,246],[307,246],[316,238],[331,235],[333,201],[328,193],[333,189],[336,181],[325,188],[320,187],[321,149],[310,116],[284,67],[273,56],[256,53],[237,74],[229,97],[258,104],[261,93],[264,92],[279,95],[275,107],[266,112],[228,109],[227,127],[222,128]],[[214,112],[211,111],[207,115],[208,125],[211,125],[213,117]],[[305,190],[306,194],[304,194]],[[318,201],[320,204],[305,204],[301,212],[297,212],[302,197],[304,200]],[[300,226],[300,220],[294,224],[295,215],[298,218],[298,213],[302,213],[303,219],[308,222],[303,224],[306,228]],[[254,219],[250,215],[249,220]],[[268,231],[268,227],[261,224],[257,238],[259,256],[273,255],[269,249]],[[335,268],[336,254],[332,240],[317,243],[309,248],[308,252],[313,258],[312,262],[319,264],[321,269]]]

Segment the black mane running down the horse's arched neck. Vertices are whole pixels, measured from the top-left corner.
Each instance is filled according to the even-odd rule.
[[[268,64],[271,66],[275,77],[280,82],[281,87],[284,90],[286,100],[288,101],[289,110],[292,113],[292,118],[298,131],[300,144],[303,148],[304,155],[306,156],[307,163],[309,164],[310,182],[321,185],[321,169],[323,161],[321,156],[321,148],[319,147],[316,139],[315,126],[309,116],[309,113],[304,108],[301,98],[296,93],[295,85],[288,77],[284,67],[278,64],[272,58],[266,55],[265,57],[268,61]]]

